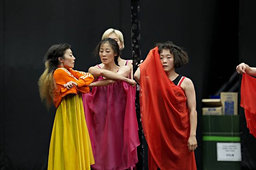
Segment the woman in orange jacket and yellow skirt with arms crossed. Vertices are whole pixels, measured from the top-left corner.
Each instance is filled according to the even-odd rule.
[[[49,149],[48,170],[89,170],[94,162],[84,117],[81,93],[88,93],[94,80],[90,73],[73,70],[70,45],[56,44],[44,58],[39,78],[42,101],[57,108]]]

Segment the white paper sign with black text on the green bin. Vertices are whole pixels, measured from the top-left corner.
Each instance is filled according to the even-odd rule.
[[[240,143],[217,143],[217,161],[241,161]]]

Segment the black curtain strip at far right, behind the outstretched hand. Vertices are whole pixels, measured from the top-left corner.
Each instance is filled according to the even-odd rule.
[[[256,1],[239,1],[239,62],[256,67]],[[242,76],[240,76],[240,80]],[[256,139],[247,128],[244,109],[240,111],[242,170],[256,169]]]

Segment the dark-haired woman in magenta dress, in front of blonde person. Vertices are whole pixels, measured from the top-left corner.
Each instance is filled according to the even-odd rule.
[[[89,68],[95,81],[89,86],[92,87],[91,92],[83,95],[85,118],[95,158],[91,168],[132,169],[138,162],[137,146],[140,144],[135,113],[135,82],[129,79],[130,68],[118,65],[120,50],[114,39],[103,39],[96,51],[104,66]],[[109,82],[109,85],[102,86],[105,85],[101,83],[104,81]]]

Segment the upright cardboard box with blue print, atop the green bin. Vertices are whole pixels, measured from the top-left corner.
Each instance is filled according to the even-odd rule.
[[[221,92],[221,103],[225,115],[237,115],[237,92]]]

